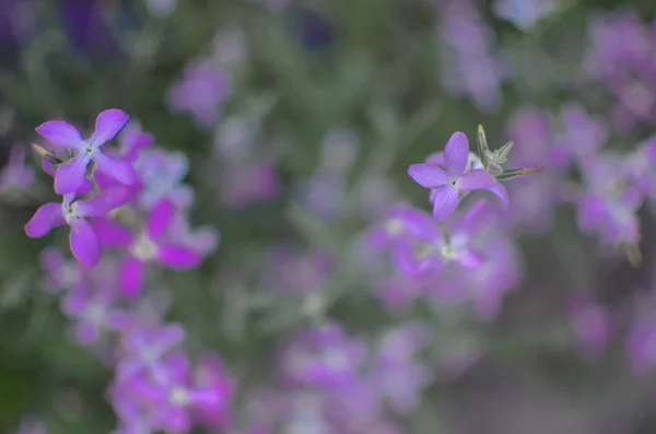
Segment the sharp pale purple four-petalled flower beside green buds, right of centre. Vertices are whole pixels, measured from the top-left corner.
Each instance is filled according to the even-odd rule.
[[[491,190],[497,185],[494,176],[484,169],[466,172],[468,161],[467,136],[455,132],[444,150],[444,169],[433,164],[412,164],[408,168],[412,179],[432,190],[435,220],[442,222],[453,214],[460,203],[461,191]]]

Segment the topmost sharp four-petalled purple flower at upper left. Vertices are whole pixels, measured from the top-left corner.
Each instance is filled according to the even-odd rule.
[[[95,131],[86,140],[80,131],[70,124],[61,120],[50,120],[42,124],[36,131],[55,146],[75,153],[68,163],[60,165],[55,174],[55,191],[59,195],[75,192],[84,183],[87,166],[91,162],[105,175],[125,185],[137,183],[138,177],[132,165],[105,155],[101,148],[114,139],[128,122],[129,116],[124,112],[112,108],[96,118]]]

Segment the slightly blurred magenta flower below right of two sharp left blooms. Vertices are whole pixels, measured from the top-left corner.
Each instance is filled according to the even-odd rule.
[[[138,237],[117,230],[117,237],[129,241],[130,256],[121,267],[121,289],[125,295],[136,296],[143,286],[145,265],[156,261],[173,270],[188,270],[197,267],[202,256],[196,250],[166,243],[164,235],[169,228],[176,209],[167,200],[160,201],[151,211],[145,231]]]

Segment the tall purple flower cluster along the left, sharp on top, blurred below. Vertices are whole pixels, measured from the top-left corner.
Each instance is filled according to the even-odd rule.
[[[155,271],[198,267],[218,236],[210,227],[189,227],[186,159],[154,148],[153,137],[137,122],[126,127],[128,120],[121,110],[105,110],[89,139],[65,121],[37,127],[52,149],[35,149],[61,201],[42,206],[25,232],[42,237],[70,227],[77,260],[55,247],[44,250],[44,289],[63,294],[73,339],[114,368],[108,399],[117,433],[219,429],[230,423],[234,394],[221,359],[206,356],[194,367],[181,347],[184,328],[166,324],[162,308],[142,312],[153,304],[143,290]],[[119,146],[104,146],[121,130]]]

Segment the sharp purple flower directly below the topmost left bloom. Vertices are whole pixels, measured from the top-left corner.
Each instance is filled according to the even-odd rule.
[[[94,267],[101,259],[101,247],[91,223],[85,219],[105,216],[109,211],[124,206],[128,198],[128,190],[124,187],[102,190],[89,200],[78,200],[73,195],[67,195],[62,203],[46,203],[36,210],[25,225],[25,233],[30,237],[39,238],[52,227],[68,224],[71,228],[71,251],[81,263]]]

